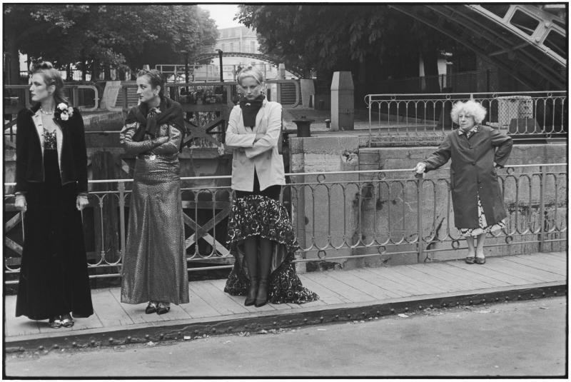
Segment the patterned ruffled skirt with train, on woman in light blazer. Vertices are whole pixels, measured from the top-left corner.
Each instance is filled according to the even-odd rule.
[[[246,296],[250,286],[248,268],[244,266],[243,241],[261,236],[273,241],[268,302],[306,303],[319,296],[301,285],[292,263],[298,249],[288,211],[278,201],[263,195],[236,198],[228,219],[228,244],[236,258],[224,291]]]

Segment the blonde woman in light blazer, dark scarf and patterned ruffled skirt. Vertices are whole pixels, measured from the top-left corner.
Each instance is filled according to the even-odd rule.
[[[263,75],[248,66],[238,74],[242,96],[228,119],[226,146],[234,148],[228,243],[236,258],[224,291],[246,295],[246,306],[303,303],[318,296],[303,288],[291,261],[298,249],[288,211],[279,202],[285,184],[278,152],[281,105],[268,101]]]

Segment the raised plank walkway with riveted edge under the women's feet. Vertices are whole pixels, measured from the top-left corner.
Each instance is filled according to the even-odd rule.
[[[9,350],[38,346],[98,346],[191,338],[206,334],[350,321],[406,313],[430,306],[541,298],[565,294],[567,253],[488,257],[485,265],[463,261],[357,268],[300,274],[319,301],[243,306],[243,296],[223,292],[225,280],[191,281],[191,302],[165,315],[146,315],[146,304],[120,303],[119,288],[92,291],[95,314],[72,328],[14,317],[16,296],[5,296],[4,336]],[[188,339],[187,338],[187,339]]]

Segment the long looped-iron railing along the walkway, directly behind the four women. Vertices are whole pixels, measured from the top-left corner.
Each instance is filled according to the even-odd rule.
[[[502,253],[517,253],[515,248],[519,248],[521,253],[564,245],[567,164],[515,165],[499,172],[507,227],[490,234],[487,247],[499,248]],[[448,171],[433,171],[425,179],[415,178],[412,169],[287,176],[290,183],[283,186],[281,198],[290,209],[300,246],[297,263],[393,256],[432,261],[460,247]],[[231,267],[231,253],[226,248],[226,219],[233,201],[227,186],[230,178],[181,178],[188,271]],[[207,186],[213,182],[218,186]],[[120,275],[131,183],[132,179],[89,181],[90,204],[82,216],[84,231],[90,233],[86,246],[92,278]],[[12,275],[5,280],[17,283],[14,276],[19,272],[25,214],[14,209],[14,195],[10,194],[14,184],[4,186],[4,271]]]

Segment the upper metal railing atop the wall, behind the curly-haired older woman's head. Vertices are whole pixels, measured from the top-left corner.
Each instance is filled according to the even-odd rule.
[[[372,130],[390,136],[444,136],[456,126],[450,111],[457,101],[474,99],[487,110],[483,124],[514,138],[567,137],[566,91],[450,94],[368,94],[369,145]]]

